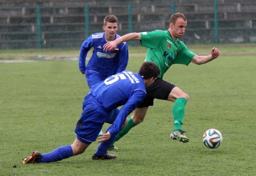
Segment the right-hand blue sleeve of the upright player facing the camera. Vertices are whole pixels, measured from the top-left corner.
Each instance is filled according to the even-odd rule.
[[[126,69],[127,64],[128,64],[129,55],[128,55],[127,42],[125,42],[125,44],[122,46],[122,48],[120,50],[121,51],[119,53],[119,64],[117,66],[116,73],[124,71]]]

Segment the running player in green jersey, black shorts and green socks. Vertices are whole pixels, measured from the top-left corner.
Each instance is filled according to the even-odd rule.
[[[182,129],[188,94],[184,93],[174,84],[162,80],[162,78],[164,73],[173,64],[188,65],[192,62],[201,65],[216,59],[220,55],[220,51],[213,47],[210,55],[198,56],[192,53],[186,45],[179,40],[183,37],[186,26],[186,17],[181,13],[176,13],[171,16],[169,28],[166,31],[156,30],[151,32],[128,33],[104,45],[104,51],[113,51],[118,44],[124,41],[140,40],[141,45],[148,48],[145,61],[153,61],[160,68],[160,77],[156,79],[154,84],[146,89],[146,98],[134,110],[132,117],[128,119],[128,124],[120,131],[115,141],[118,141],[122,136],[128,133],[132,127],[143,121],[148,107],[153,106],[154,98],[174,102],[172,108],[174,130],[170,138],[178,139],[183,143],[189,141]]]

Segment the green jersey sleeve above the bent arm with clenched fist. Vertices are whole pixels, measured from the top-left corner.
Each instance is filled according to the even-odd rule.
[[[177,55],[178,59],[176,59],[176,61],[174,61],[175,64],[184,64],[184,65],[188,65],[192,58],[195,56],[196,54],[193,53],[192,51],[190,51],[186,45],[181,42],[180,45],[180,51]]]

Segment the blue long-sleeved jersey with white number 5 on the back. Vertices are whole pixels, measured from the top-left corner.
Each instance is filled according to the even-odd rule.
[[[126,117],[146,97],[146,89],[140,74],[125,70],[93,86],[89,95],[106,111],[124,105],[108,130],[111,135],[116,135]]]

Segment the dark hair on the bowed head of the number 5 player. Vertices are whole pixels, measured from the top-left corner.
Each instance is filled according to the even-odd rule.
[[[142,64],[138,73],[143,77],[143,79],[149,79],[152,77],[158,77],[160,70],[155,63],[146,61]]]

